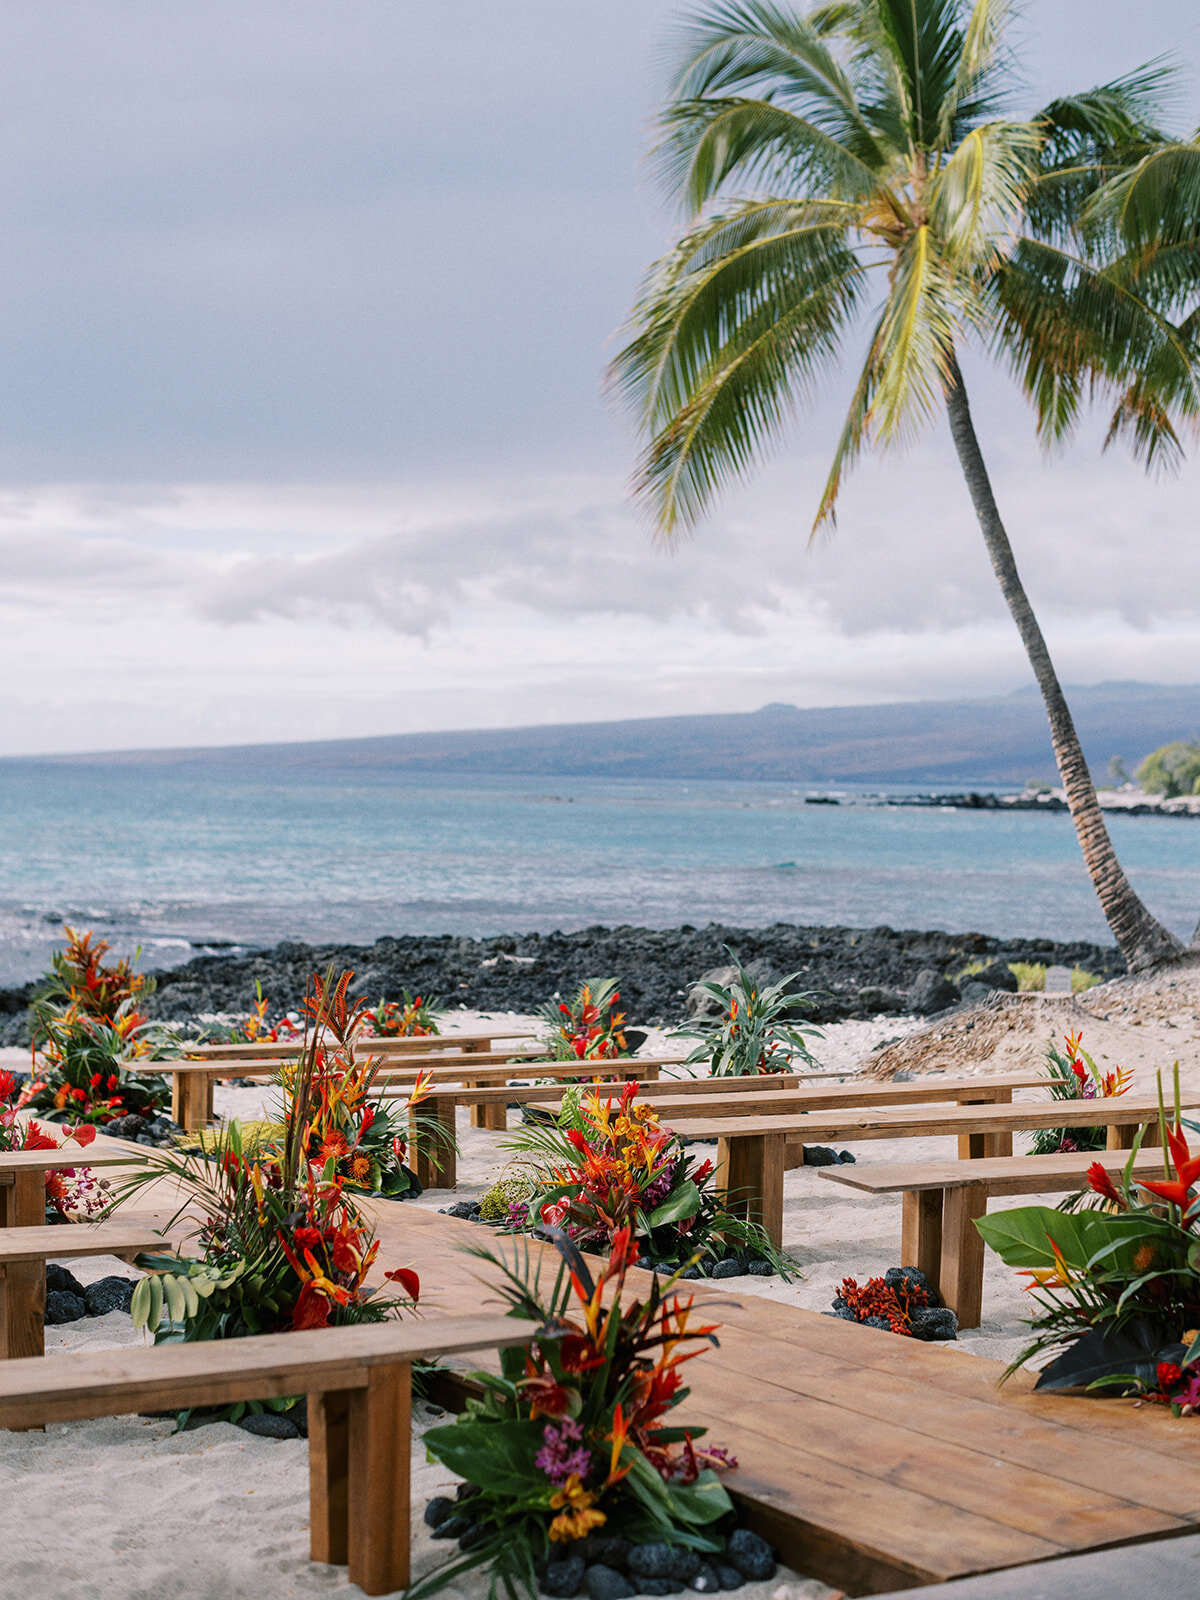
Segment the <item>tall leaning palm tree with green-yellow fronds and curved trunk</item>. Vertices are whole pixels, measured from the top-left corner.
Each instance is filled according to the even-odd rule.
[[[1162,144],[1163,70],[1000,115],[1003,0],[710,0],[688,26],[659,158],[690,226],[650,275],[613,381],[650,435],[635,493],[666,538],[699,520],[832,370],[869,285],[867,354],[816,528],[864,445],[944,405],[1050,730],[1083,859],[1131,970],[1179,941],[1126,880],[1018,574],[957,352],[1002,358],[1045,443],[1085,398],[1146,459],[1197,418],[1192,346],[1131,291],[1080,213]]]

